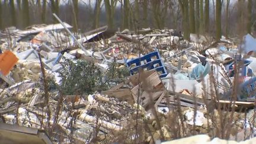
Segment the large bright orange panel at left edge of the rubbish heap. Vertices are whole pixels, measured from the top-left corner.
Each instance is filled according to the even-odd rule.
[[[6,50],[0,55],[0,71],[3,75],[7,75],[9,71],[18,62],[18,58],[9,50]]]

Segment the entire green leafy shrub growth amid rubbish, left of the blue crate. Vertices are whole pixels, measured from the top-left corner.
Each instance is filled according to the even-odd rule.
[[[95,91],[104,91],[112,85],[117,85],[126,80],[129,71],[126,67],[117,68],[116,62],[110,63],[107,72],[92,62],[64,59],[61,63],[60,76],[62,84],[60,89],[65,95],[86,95]]]

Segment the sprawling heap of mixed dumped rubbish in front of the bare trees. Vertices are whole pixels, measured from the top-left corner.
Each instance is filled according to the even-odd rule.
[[[256,39],[171,29],[1,31],[4,143],[254,143]]]

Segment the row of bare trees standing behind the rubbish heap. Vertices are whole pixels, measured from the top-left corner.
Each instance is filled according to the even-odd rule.
[[[190,33],[222,35],[253,33],[252,0],[4,0],[0,1],[0,29],[57,23],[52,13],[73,25],[90,30],[108,25],[110,30],[174,28]]]

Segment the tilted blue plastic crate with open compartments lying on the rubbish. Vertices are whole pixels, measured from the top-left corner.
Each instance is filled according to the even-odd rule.
[[[158,51],[148,53],[137,59],[126,61],[126,66],[130,69],[130,75],[136,74],[139,69],[145,69],[146,71],[155,69],[159,72],[160,78],[167,76],[167,71]]]

